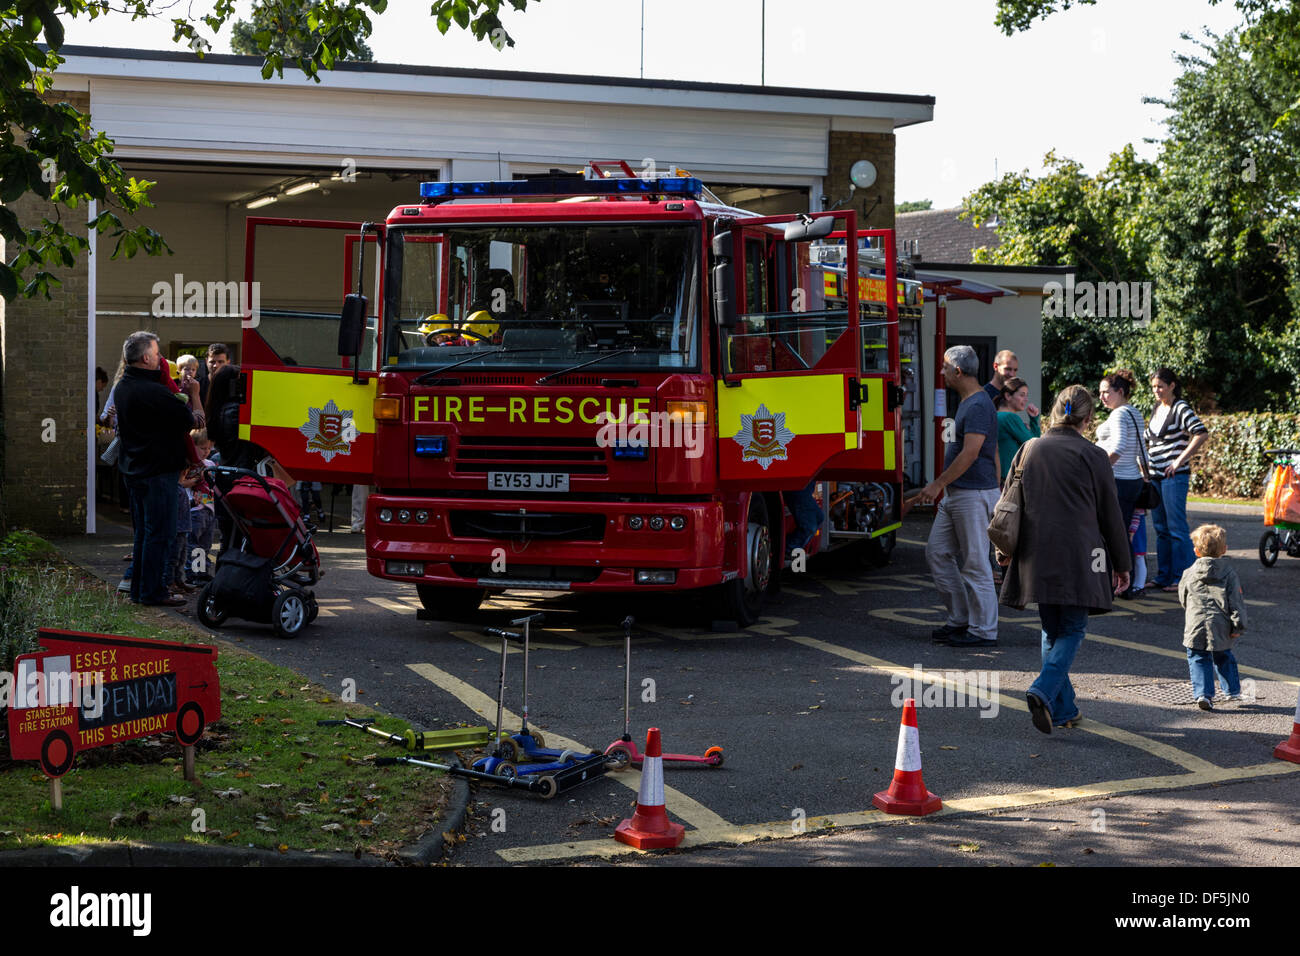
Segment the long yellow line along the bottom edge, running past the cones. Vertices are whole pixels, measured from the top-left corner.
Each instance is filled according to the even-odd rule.
[[[1050,804],[1065,804],[1075,800],[1088,800],[1102,796],[1121,796],[1124,793],[1141,793],[1162,790],[1182,790],[1184,787],[1197,787],[1208,783],[1228,783],[1232,780],[1249,780],[1260,777],[1278,777],[1280,774],[1300,773],[1300,765],[1286,761],[1273,761],[1270,763],[1257,763],[1245,767],[1214,767],[1212,770],[1196,771],[1191,774],[1173,774],[1165,777],[1135,777],[1127,780],[1108,780],[1102,783],[1089,783],[1082,787],[1052,787],[1045,790],[1031,790],[1020,793],[991,793],[988,796],[965,797],[959,800],[945,800],[944,809],[930,814],[924,819],[933,817],[956,817],[983,813],[988,810],[1027,809],[1030,806],[1043,806]],[[671,806],[671,804],[670,804]],[[898,826],[902,823],[918,822],[916,817],[890,816],[880,810],[855,810],[850,813],[832,813],[822,817],[809,817],[805,821],[805,831],[794,832],[790,821],[776,821],[772,823],[745,823],[725,827],[701,827],[688,830],[682,847],[705,847],[715,844],[742,845],[754,840],[793,839],[796,836],[826,835],[833,830],[844,830],[863,826]],[[633,849],[612,838],[606,840],[575,840],[572,843],[555,843],[538,847],[514,847],[499,849],[499,856],[506,862],[543,862],[549,860],[572,860],[578,857],[615,857],[642,855],[645,851]]]

